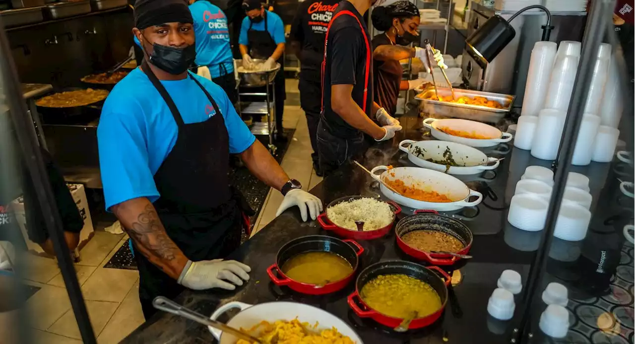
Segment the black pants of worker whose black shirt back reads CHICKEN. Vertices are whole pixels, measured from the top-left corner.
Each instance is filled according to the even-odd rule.
[[[304,110],[305,116],[307,116],[307,126],[309,127],[309,137],[311,138],[311,148],[313,153],[311,158],[313,165],[319,166],[318,159],[318,123],[320,112],[322,110],[321,102],[321,82],[318,79],[311,79],[305,77],[300,72],[300,82],[298,83],[298,90],[300,90],[300,107]]]

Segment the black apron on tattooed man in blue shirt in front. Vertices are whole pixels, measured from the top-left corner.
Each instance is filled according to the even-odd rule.
[[[170,237],[191,261],[224,258],[241,238],[240,196],[229,186],[229,134],[210,93],[189,74],[216,114],[185,124],[168,92],[145,62],[143,71],[170,108],[178,126],[177,142],[154,175],[161,197],[154,202]],[[156,310],[156,296],[175,298],[185,288],[150,263],[135,247],[140,275],[139,299],[145,319]]]

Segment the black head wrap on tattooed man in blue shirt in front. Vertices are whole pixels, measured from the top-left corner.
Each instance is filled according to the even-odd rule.
[[[137,0],[135,3],[135,27],[143,30],[165,23],[194,24],[192,13],[185,0]]]

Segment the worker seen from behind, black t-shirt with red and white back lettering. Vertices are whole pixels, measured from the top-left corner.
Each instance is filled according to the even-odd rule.
[[[313,153],[313,168],[322,175],[318,160],[316,132],[321,111],[321,65],[324,60],[324,34],[337,9],[338,0],[306,0],[300,3],[291,22],[291,50],[300,60],[300,106],[307,116]]]

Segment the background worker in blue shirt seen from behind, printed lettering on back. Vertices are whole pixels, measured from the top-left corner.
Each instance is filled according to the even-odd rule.
[[[215,4],[207,0],[190,0],[196,36],[196,65],[210,69],[211,81],[227,93],[232,103],[238,100],[234,57],[229,45],[227,17]]]

